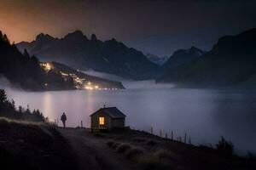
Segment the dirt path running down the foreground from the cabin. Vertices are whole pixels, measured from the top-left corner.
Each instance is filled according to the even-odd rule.
[[[110,150],[107,141],[83,129],[60,128],[79,158],[79,169],[130,169],[125,159]]]

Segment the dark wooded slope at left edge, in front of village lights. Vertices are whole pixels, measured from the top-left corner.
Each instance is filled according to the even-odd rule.
[[[15,86],[29,90],[73,89],[73,83],[65,82],[60,74],[44,71],[34,55],[30,56],[26,50],[21,54],[1,31],[0,76],[8,78]]]

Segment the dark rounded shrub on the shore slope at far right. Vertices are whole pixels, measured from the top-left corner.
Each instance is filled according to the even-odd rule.
[[[223,136],[221,136],[218,144],[216,144],[216,148],[221,154],[225,156],[232,156],[234,152],[234,145],[230,141],[224,139]]]

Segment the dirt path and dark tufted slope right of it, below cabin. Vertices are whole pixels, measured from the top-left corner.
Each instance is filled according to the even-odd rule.
[[[79,157],[79,169],[256,169],[252,159],[224,156],[149,133],[90,133],[60,129]]]

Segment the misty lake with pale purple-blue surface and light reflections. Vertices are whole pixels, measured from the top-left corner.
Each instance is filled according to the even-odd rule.
[[[146,83],[144,84],[146,85]],[[235,144],[236,152],[256,152],[256,91],[167,88],[131,88],[113,91],[20,92],[8,90],[16,105],[30,105],[60,120],[67,113],[67,126],[83,120],[90,127],[90,114],[103,105],[123,111],[126,125],[174,138],[187,133],[193,144],[216,144],[221,135]],[[61,122],[59,121],[59,125]],[[188,138],[189,138],[188,137]]]

